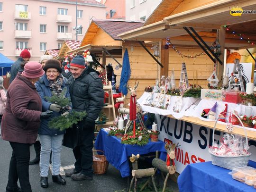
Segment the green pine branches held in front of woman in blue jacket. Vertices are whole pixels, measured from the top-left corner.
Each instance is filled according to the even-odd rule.
[[[45,97],[46,100],[50,101],[51,103],[55,103],[61,106],[61,110],[59,112],[61,114],[70,110],[69,106],[71,104],[71,100],[65,97],[66,92],[67,89],[65,88],[59,95],[54,94],[52,97]],[[79,112],[72,110],[66,116],[53,117],[48,122],[48,126],[52,129],[59,129],[60,131],[64,131],[65,129],[72,127],[74,124],[77,124],[79,121],[82,121],[82,119],[86,117],[86,115],[87,113],[85,111]]]

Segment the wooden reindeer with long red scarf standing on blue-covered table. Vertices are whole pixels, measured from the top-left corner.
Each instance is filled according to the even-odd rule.
[[[138,82],[139,83],[139,82]],[[134,83],[134,88],[132,89],[129,85],[127,86],[127,89],[130,91],[130,107],[129,107],[129,120],[126,124],[125,127],[125,134],[127,133],[127,130],[129,129],[132,121],[133,121],[133,136],[135,137],[135,128],[136,128],[136,119],[138,118],[138,120],[140,121],[141,127],[143,128],[143,132],[144,134],[146,134],[146,126],[143,123],[142,120],[142,108],[141,106],[137,103],[136,100],[136,89],[138,87],[138,83],[136,84],[136,82]]]

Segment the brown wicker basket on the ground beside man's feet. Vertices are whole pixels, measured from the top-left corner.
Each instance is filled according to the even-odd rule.
[[[104,154],[102,150],[93,150],[93,173],[94,174],[104,174],[107,172],[109,167],[109,161],[107,161],[105,155],[94,155],[94,152],[100,151]]]

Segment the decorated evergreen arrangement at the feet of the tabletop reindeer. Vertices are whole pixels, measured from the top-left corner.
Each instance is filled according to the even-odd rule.
[[[125,134],[122,139],[121,143],[129,144],[129,145],[139,145],[143,146],[148,143],[149,135],[144,134],[141,127],[138,127],[135,132],[135,137],[133,137],[133,130]]]

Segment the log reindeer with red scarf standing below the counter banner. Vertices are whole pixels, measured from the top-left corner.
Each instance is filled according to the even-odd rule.
[[[178,143],[179,144],[179,143]],[[169,175],[172,175],[176,172],[176,166],[174,163],[174,159],[175,159],[175,148],[178,147],[178,144],[165,144],[165,149],[167,152],[167,157],[166,157],[166,162],[163,161],[162,159],[158,159],[155,158],[152,161],[152,165],[153,167],[159,169],[160,171],[167,173],[167,175],[165,176],[165,182],[164,182],[164,187],[163,187],[163,191],[165,192],[165,187],[166,187],[166,183],[167,183],[167,179],[169,177]]]

